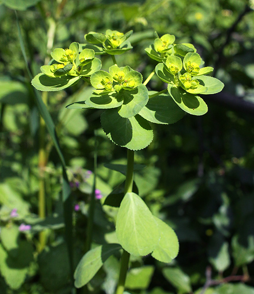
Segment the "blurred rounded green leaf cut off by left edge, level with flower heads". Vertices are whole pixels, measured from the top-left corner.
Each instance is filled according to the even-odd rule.
[[[18,104],[28,102],[28,91],[21,82],[0,80],[0,103]]]

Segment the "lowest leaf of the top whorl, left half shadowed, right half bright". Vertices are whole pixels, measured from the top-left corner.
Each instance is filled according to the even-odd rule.
[[[153,140],[153,130],[145,119],[139,115],[123,118],[116,108],[107,109],[102,113],[101,125],[116,145],[131,150],[143,149]]]

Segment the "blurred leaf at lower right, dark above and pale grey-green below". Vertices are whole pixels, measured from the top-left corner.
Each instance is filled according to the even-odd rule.
[[[225,241],[223,235],[214,234],[208,246],[209,262],[215,270],[223,272],[230,266],[229,244]]]

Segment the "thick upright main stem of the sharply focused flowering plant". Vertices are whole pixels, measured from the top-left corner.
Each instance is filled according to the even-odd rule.
[[[127,171],[124,186],[124,194],[132,192],[133,187],[133,169],[134,169],[134,151],[127,150]],[[123,294],[126,275],[129,267],[130,253],[123,249],[120,261],[119,279],[115,294]]]

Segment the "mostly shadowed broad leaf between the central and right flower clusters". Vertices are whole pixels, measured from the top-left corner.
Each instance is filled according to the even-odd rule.
[[[177,106],[169,94],[161,94],[149,98],[147,104],[139,111],[139,115],[151,123],[176,123],[185,112]]]

